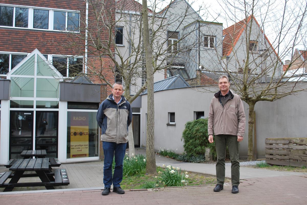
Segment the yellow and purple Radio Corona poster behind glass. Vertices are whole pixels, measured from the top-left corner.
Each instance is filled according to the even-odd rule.
[[[88,119],[71,116],[70,158],[88,157]]]

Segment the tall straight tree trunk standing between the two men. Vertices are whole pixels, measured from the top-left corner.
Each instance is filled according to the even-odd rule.
[[[147,72],[147,125],[146,125],[146,173],[155,174],[154,154],[154,101],[153,101],[153,52],[150,47],[147,1],[142,0],[143,38]]]

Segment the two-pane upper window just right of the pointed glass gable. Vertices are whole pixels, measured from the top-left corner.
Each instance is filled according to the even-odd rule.
[[[52,65],[64,77],[74,77],[77,74],[83,73],[83,58],[80,57],[52,57]],[[68,72],[67,72],[68,70]]]

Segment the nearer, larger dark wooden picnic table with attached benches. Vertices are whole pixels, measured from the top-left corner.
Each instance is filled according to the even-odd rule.
[[[5,187],[4,192],[12,191],[14,187],[45,186],[46,189],[54,189],[54,186],[69,184],[66,169],[55,169],[54,173],[50,172],[49,158],[17,159],[9,170],[10,172],[0,173],[0,187]],[[29,176],[24,174],[25,171],[35,171],[36,174]],[[10,182],[5,183],[10,177]],[[21,177],[39,177],[41,182],[18,183]]]

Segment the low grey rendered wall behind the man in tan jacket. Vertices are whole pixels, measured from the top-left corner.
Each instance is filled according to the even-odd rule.
[[[305,83],[307,88],[307,83]],[[154,93],[155,104],[155,150],[169,148],[178,154],[184,152],[181,142],[182,131],[185,123],[193,120],[194,111],[204,111],[208,117],[209,105],[213,93],[204,92],[208,87],[188,87],[169,89]],[[202,92],[198,92],[198,91]],[[211,88],[214,92],[214,90]],[[257,102],[256,133],[257,133],[257,156],[265,158],[266,138],[291,138],[307,137],[306,113],[307,92],[284,97],[274,102]],[[240,158],[247,158],[248,146],[248,105],[243,102],[246,115],[245,135],[240,142]],[[166,125],[168,112],[175,112],[175,126]],[[141,142],[146,147],[146,120],[147,95],[142,95],[141,110]]]

